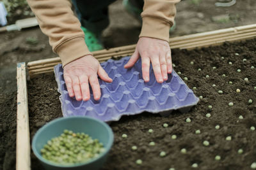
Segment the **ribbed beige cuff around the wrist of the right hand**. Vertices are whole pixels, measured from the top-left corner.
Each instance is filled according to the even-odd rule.
[[[140,37],[157,38],[169,42],[170,24],[168,22],[151,17],[143,17],[142,20]]]

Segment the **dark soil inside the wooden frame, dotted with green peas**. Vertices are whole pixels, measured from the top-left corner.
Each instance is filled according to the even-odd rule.
[[[193,164],[207,170],[251,169],[256,162],[256,131],[250,129],[256,127],[256,69],[252,67],[256,66],[256,39],[200,50],[172,50],[172,58],[175,71],[188,78],[185,82],[202,99],[189,113],[173,111],[168,117],[142,113],[112,122],[115,143],[103,169],[194,169]],[[54,73],[28,82],[31,138],[46,122],[62,116],[59,95]],[[230,102],[234,106],[228,106]],[[207,113],[211,117],[206,117]],[[215,129],[216,125],[220,129]],[[200,134],[195,134],[198,129]],[[172,139],[173,134],[177,139]],[[232,139],[226,140],[227,136]],[[154,146],[149,145],[152,141]],[[204,141],[209,141],[209,146],[203,145]],[[182,148],[186,153],[180,152]],[[243,153],[237,153],[239,149]],[[164,157],[159,155],[162,151]],[[215,160],[216,155],[221,159]],[[32,169],[42,169],[33,153],[31,158]]]

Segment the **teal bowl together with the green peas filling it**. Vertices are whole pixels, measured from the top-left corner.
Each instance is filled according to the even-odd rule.
[[[108,124],[90,117],[57,118],[33,137],[32,150],[45,169],[100,169],[113,145]]]

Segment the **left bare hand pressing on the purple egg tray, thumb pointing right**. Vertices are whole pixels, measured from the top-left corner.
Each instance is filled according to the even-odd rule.
[[[89,84],[93,90],[93,98],[99,100],[101,96],[99,77],[111,83],[113,80],[100,66],[99,61],[92,55],[86,55],[64,66],[64,79],[70,97],[76,96],[77,101],[90,99]]]

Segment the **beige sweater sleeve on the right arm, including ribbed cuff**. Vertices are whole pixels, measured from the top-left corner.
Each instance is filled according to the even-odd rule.
[[[169,30],[176,15],[175,4],[180,0],[145,0],[140,37],[163,39],[169,42]]]

